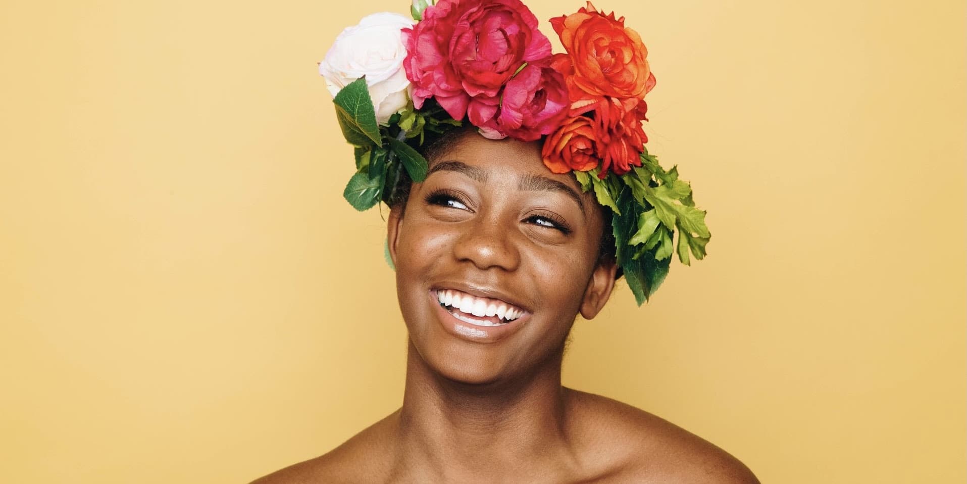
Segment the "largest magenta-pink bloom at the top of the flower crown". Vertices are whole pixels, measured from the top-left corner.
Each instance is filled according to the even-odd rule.
[[[417,108],[434,97],[462,119],[471,98],[497,97],[525,62],[550,60],[550,41],[520,0],[440,0],[423,15],[403,29],[403,66]]]

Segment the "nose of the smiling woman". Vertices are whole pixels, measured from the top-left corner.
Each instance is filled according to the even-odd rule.
[[[516,270],[520,253],[513,242],[513,233],[506,226],[481,217],[462,228],[464,232],[454,247],[458,260],[472,262],[479,269]]]

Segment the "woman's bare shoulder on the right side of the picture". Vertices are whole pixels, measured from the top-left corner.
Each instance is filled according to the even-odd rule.
[[[575,435],[607,482],[759,484],[745,464],[712,442],[617,400],[570,389]]]

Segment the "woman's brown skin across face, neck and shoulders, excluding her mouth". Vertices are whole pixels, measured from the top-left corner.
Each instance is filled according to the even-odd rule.
[[[405,203],[388,220],[410,335],[402,407],[253,484],[758,483],[712,443],[561,384],[571,325],[598,315],[616,267],[599,257],[597,201],[543,166],[539,142],[461,136]],[[438,289],[525,315],[475,332]]]

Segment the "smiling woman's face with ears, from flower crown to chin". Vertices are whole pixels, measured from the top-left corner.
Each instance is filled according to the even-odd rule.
[[[396,292],[410,339],[438,373],[486,383],[560,353],[578,313],[614,284],[599,264],[603,221],[539,142],[461,136],[389,218]],[[442,301],[442,302],[441,302]]]

